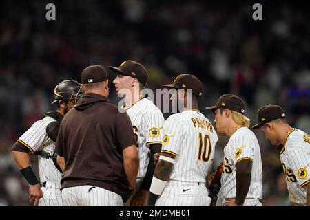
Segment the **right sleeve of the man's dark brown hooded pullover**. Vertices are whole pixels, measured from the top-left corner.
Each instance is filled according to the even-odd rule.
[[[122,149],[132,144],[138,145],[136,143],[136,137],[134,137],[134,130],[132,129],[132,122],[128,117],[127,113],[116,113],[116,136],[118,144],[120,144]]]

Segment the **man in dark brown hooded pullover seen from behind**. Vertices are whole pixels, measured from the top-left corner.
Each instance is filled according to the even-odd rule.
[[[138,149],[127,113],[109,96],[103,65],[81,72],[83,96],[63,118],[55,150],[65,206],[123,206],[138,174]]]

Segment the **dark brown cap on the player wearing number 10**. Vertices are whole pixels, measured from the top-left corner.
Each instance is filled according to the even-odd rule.
[[[192,89],[192,93],[196,96],[203,94],[203,83],[192,74],[180,74],[172,84],[163,85],[163,87],[174,89]]]

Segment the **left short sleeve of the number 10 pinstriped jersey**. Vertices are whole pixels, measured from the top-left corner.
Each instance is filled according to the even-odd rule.
[[[163,142],[161,152],[178,155],[183,142],[185,128],[180,120],[174,115],[170,116],[163,126]]]

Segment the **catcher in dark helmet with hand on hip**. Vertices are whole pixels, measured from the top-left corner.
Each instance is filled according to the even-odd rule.
[[[21,174],[29,183],[29,201],[34,206],[63,206],[61,169],[56,164],[55,142],[63,115],[80,97],[81,88],[75,80],[65,80],[56,85],[52,104],[57,104],[57,111],[48,111],[43,119],[34,122],[10,150]],[[42,188],[32,171],[28,153],[41,156],[39,177]]]

